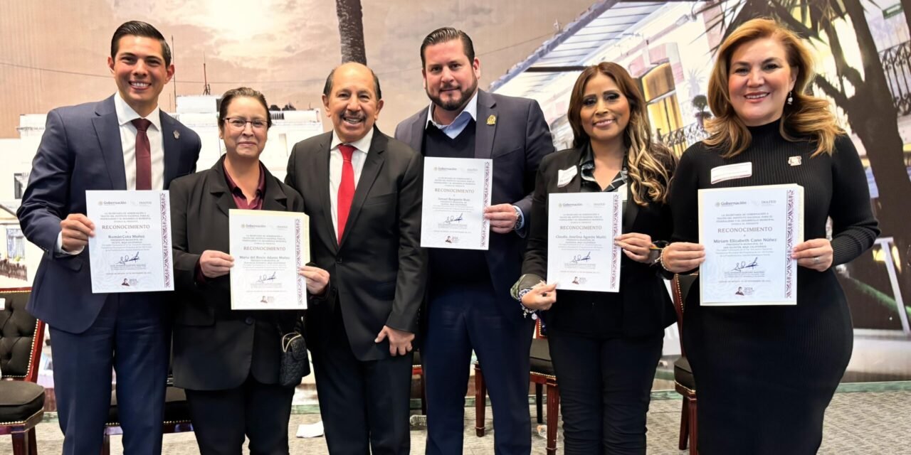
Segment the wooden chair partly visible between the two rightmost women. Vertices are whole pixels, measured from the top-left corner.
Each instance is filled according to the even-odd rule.
[[[670,281],[671,295],[673,296],[674,309],[677,310],[677,330],[681,338],[681,358],[674,362],[674,389],[683,396],[681,409],[681,436],[678,447],[680,450],[687,448],[690,442],[690,455],[698,453],[698,421],[696,420],[696,381],[692,377],[690,360],[686,358],[683,350],[683,309],[690,288],[696,281],[696,275],[674,275]]]

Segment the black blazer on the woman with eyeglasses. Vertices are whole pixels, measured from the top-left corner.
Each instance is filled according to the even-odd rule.
[[[303,211],[303,198],[266,172],[263,210]],[[264,384],[278,382],[281,334],[299,316],[293,310],[230,309],[230,275],[196,282],[204,250],[230,254],[228,210],[237,208],[224,175],[224,157],[215,166],[170,186],[173,227],[174,384],[194,390],[240,387],[251,374]]]

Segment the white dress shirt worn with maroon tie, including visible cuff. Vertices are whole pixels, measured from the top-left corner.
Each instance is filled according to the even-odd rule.
[[[148,136],[148,148],[151,152],[152,161],[152,189],[164,189],[165,187],[165,148],[161,136],[161,110],[155,107],[148,116],[143,117],[136,113],[132,107],[120,96],[120,93],[114,95],[114,109],[117,112],[117,122],[120,131],[120,147],[123,150],[123,170],[127,177],[127,189],[136,189],[136,126],[133,126],[133,120],[137,118],[146,118],[152,124],[148,126],[146,136]],[[57,234],[56,252],[57,254],[77,255],[83,248],[77,251],[63,250],[63,233]]]

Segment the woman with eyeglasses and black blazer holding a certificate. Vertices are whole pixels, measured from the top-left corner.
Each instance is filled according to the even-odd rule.
[[[300,315],[292,310],[231,310],[228,211],[303,211],[303,198],[260,161],[271,117],[265,97],[247,87],[221,97],[219,136],[225,154],[215,166],[170,185],[174,275],[174,384],[186,390],[200,453],[288,453],[293,387],[279,384],[281,335]],[[329,280],[303,267],[307,290]]]

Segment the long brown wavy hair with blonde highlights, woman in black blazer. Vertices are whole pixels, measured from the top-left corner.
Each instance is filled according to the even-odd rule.
[[[569,96],[567,112],[569,126],[572,127],[573,147],[581,148],[589,143],[589,135],[582,127],[582,98],[585,97],[585,85],[598,74],[610,77],[630,103],[630,123],[623,131],[623,145],[627,147],[627,177],[630,179],[633,200],[640,206],[646,206],[648,195],[653,201],[667,202],[668,182],[674,167],[677,167],[677,157],[668,147],[651,140],[645,98],[639,84],[623,66],[613,62],[601,62],[585,68],[582,74],[578,75],[576,85]]]

